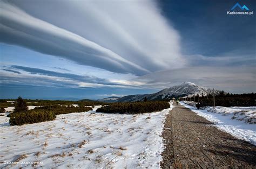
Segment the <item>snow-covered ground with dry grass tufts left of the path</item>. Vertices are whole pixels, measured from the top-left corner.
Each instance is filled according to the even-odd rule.
[[[172,103],[171,103],[172,104]],[[0,116],[0,168],[159,168],[164,149],[159,112],[121,115],[92,111],[58,115],[54,121],[9,126]]]

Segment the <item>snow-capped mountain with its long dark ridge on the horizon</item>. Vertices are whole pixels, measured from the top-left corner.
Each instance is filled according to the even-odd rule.
[[[215,93],[219,93],[217,90]],[[147,100],[166,100],[171,99],[172,97],[184,97],[184,96],[192,96],[194,93],[200,95],[212,94],[213,89],[201,87],[191,82],[184,82],[181,85],[173,86],[170,88],[163,89],[153,94],[144,94],[144,95],[129,95],[118,98],[114,102],[136,102],[143,101],[145,97]]]

